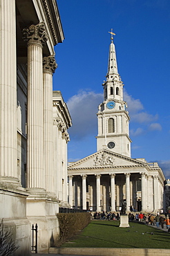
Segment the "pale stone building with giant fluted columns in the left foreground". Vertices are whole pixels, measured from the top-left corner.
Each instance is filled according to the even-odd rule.
[[[54,46],[64,33],[55,0],[0,0],[0,219],[11,230],[15,255],[38,252],[59,234],[56,213],[68,206],[67,129],[71,118],[53,93]]]

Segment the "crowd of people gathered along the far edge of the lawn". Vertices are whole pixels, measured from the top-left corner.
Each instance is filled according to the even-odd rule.
[[[94,212],[91,213],[92,219],[102,219],[102,220],[120,220],[121,212]],[[129,212],[129,221],[141,221],[144,222],[146,225],[156,226],[157,228],[161,227],[164,228],[164,224],[166,225],[167,229],[170,232],[170,213],[169,214],[144,214],[142,212],[135,213]]]

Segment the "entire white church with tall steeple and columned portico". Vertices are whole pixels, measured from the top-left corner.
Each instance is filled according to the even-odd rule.
[[[93,211],[157,212],[163,207],[164,174],[158,163],[131,158],[129,113],[117,70],[111,32],[104,100],[97,113],[97,152],[68,165],[69,203]]]

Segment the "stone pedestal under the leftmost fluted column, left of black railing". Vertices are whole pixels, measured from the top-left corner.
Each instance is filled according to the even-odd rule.
[[[31,226],[26,218],[28,192],[13,183],[0,184],[1,211],[4,232],[12,234],[12,241],[19,246],[14,255],[31,255]]]

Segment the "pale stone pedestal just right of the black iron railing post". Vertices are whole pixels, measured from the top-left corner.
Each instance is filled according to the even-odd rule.
[[[30,190],[29,190],[30,191]],[[37,194],[30,194],[27,198],[27,217],[31,223],[38,226],[38,253],[48,253],[50,247],[57,244],[59,237],[59,200],[55,199],[44,190]]]

